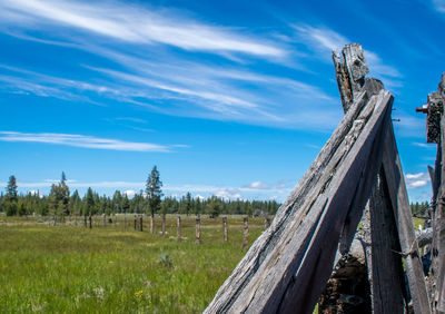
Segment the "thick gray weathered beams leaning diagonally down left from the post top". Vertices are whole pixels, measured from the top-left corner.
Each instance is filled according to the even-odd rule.
[[[386,91],[370,99],[364,92],[357,96],[206,313],[313,311],[332,272],[345,219],[360,213],[370,193],[390,105]]]

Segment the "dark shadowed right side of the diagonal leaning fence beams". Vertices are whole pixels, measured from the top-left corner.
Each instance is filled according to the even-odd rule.
[[[375,135],[370,136],[372,129],[367,127],[373,124],[369,121],[348,155],[353,158],[352,156],[357,154],[355,159],[345,159],[345,173],[333,179],[333,187],[338,185],[338,188],[332,189],[324,216],[317,225],[305,258],[283,297],[279,308],[285,313],[293,313],[295,306],[300,308],[298,313],[313,311],[332,273],[337,243],[346,220],[356,220],[358,224],[359,218],[356,217],[362,216],[379,169],[385,129],[390,117],[392,96],[385,91],[378,96],[375,110],[385,109],[382,115],[375,112],[370,121],[375,119],[374,122],[377,122],[377,119],[380,119],[382,125],[378,129],[373,129]],[[362,154],[355,151],[356,149],[362,149]],[[357,225],[353,227],[355,229]]]

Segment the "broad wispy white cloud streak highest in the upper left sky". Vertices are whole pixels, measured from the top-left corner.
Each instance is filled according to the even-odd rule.
[[[65,0],[7,0],[0,3],[8,20],[26,20],[76,28],[120,41],[169,45],[185,50],[240,52],[284,57],[286,52],[265,40],[234,30],[190,20],[164,9],[162,13],[125,2]]]

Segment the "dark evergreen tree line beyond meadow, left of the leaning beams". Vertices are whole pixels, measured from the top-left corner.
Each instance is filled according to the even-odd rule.
[[[280,204],[275,200],[227,200],[216,196],[206,199],[194,198],[190,193],[185,196],[162,197],[162,183],[156,166],[150,173],[145,190],[132,198],[116,190],[112,197],[99,195],[88,188],[81,197],[78,190],[70,194],[67,178],[62,173],[59,184],[51,186],[50,194],[39,195],[29,193],[19,195],[16,177],[9,178],[6,193],[0,194],[0,212],[8,216],[41,215],[53,217],[55,222],[63,220],[67,216],[113,215],[113,214],[185,214],[210,216],[227,215],[275,215]]]

